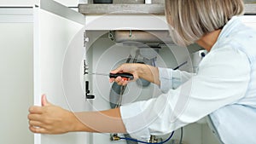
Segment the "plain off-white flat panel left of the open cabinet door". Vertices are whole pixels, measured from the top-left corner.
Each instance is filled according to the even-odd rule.
[[[32,23],[0,23],[0,143],[32,144]]]

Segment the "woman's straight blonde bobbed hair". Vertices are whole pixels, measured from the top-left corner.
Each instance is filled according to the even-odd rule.
[[[166,19],[174,43],[187,46],[221,29],[244,13],[242,0],[166,0]]]

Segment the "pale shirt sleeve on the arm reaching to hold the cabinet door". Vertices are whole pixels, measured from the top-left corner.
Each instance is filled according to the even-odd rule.
[[[236,103],[247,91],[250,71],[244,53],[216,49],[201,61],[198,74],[177,89],[120,107],[126,131],[138,139],[165,135]]]

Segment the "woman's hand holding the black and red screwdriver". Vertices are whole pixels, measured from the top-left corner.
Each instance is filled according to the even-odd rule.
[[[135,63],[126,63],[123,64],[121,66],[119,66],[117,69],[111,71],[110,73],[123,73],[123,72],[127,72],[127,73],[131,73],[134,77],[134,79],[132,81],[136,81],[139,78],[139,71],[140,71],[140,67],[142,67],[143,64],[135,64]],[[110,78],[109,81],[111,83],[116,82],[119,85],[126,85],[128,84],[128,81],[125,78]]]

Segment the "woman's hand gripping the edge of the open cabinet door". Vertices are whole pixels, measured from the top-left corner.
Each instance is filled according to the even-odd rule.
[[[75,130],[79,123],[73,112],[50,104],[46,96],[42,96],[42,107],[29,108],[29,129],[34,133],[63,134]]]

